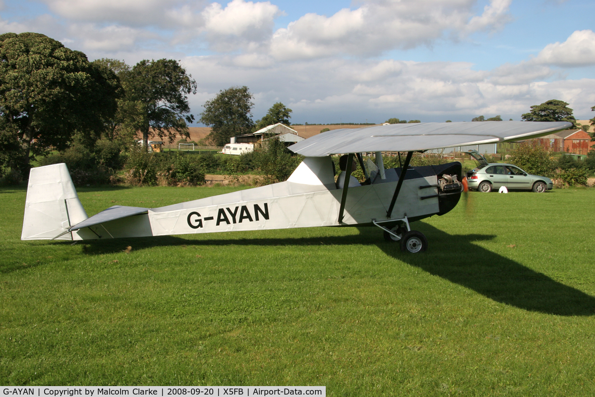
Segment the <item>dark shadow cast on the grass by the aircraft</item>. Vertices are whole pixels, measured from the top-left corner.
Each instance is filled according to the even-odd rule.
[[[307,248],[321,244],[329,246],[374,244],[396,260],[474,290],[496,302],[553,315],[595,314],[593,296],[474,244],[477,241],[494,239],[495,236],[449,235],[424,222],[415,223],[414,228],[421,230],[428,236],[430,242],[434,242],[427,252],[421,254],[401,252],[398,242],[384,242],[381,231],[375,227],[359,227],[360,234],[350,236],[217,239],[216,235],[209,235],[208,239],[199,240],[173,236],[106,240],[86,242],[84,252],[87,255],[120,252],[127,245],[131,245],[133,250],[137,251],[154,246],[181,245],[299,245]],[[247,234],[247,232],[242,233],[243,236]],[[333,248],[329,247],[329,249]],[[337,255],[340,255],[339,250]]]

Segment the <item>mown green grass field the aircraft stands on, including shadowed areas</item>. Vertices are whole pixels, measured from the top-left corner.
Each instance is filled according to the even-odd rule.
[[[232,189],[79,196],[95,214]],[[595,394],[595,189],[471,192],[412,224],[417,255],[368,227],[21,242],[25,193],[0,190],[1,385]]]

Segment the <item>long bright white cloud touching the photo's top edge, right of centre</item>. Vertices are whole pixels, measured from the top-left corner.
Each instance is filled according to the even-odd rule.
[[[278,60],[366,56],[431,45],[444,36],[500,29],[510,21],[510,2],[491,0],[483,14],[474,15],[472,0],[369,0],[356,10],[343,9],[331,17],[306,14],[286,29],[278,29],[271,55]]]

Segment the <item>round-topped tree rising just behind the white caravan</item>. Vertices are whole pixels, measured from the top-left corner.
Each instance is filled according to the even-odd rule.
[[[217,146],[229,142],[230,137],[248,134],[254,123],[251,113],[252,93],[248,87],[230,87],[221,90],[215,98],[206,101],[201,113],[201,123],[211,126],[208,138]]]

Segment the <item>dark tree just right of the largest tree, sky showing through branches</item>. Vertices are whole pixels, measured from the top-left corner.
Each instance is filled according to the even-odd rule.
[[[186,123],[194,121],[188,95],[196,93],[196,82],[177,61],[142,60],[121,76],[126,92],[122,122],[142,133],[143,146],[154,133],[170,142],[176,133],[188,135]]]

